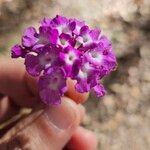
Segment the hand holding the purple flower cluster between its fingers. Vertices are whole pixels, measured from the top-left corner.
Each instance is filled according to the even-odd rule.
[[[95,150],[95,135],[80,126],[85,115],[81,103],[88,93],[76,92],[68,80],[62,104],[45,106],[38,97],[36,81],[25,72],[21,61],[0,58],[0,123],[22,107],[32,108],[27,117],[0,130],[0,149]]]

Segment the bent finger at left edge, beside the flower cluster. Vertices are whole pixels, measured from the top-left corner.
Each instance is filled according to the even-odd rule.
[[[17,105],[32,106],[37,99],[29,92],[24,74],[21,61],[0,58],[0,93],[10,96]]]

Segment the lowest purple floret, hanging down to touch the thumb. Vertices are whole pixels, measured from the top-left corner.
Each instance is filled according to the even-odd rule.
[[[57,105],[67,90],[65,72],[61,68],[49,69],[39,79],[39,94],[44,103]]]

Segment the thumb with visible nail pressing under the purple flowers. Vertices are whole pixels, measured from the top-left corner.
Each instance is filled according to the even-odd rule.
[[[80,122],[80,107],[69,98],[32,113],[0,141],[0,149],[61,150]]]

